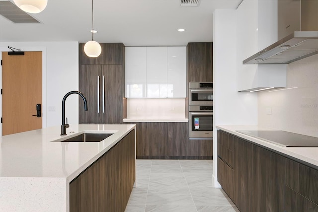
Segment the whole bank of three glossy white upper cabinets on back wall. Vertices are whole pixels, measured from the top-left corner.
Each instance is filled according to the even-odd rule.
[[[126,97],[185,98],[186,47],[126,47]]]

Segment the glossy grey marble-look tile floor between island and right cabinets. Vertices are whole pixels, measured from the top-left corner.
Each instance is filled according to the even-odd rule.
[[[212,186],[212,160],[137,160],[125,212],[239,212]]]

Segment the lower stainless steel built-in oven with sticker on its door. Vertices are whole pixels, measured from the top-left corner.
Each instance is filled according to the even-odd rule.
[[[213,106],[189,106],[189,138],[213,138]]]

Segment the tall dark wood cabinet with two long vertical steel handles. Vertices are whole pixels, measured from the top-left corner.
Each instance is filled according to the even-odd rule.
[[[124,104],[124,45],[103,43],[102,53],[90,58],[80,44],[79,89],[88,101],[88,111],[80,104],[80,124],[122,123]]]

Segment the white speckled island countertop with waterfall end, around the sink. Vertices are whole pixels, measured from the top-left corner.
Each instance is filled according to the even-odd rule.
[[[69,183],[135,127],[71,124],[66,136],[61,126],[2,136],[0,211],[69,211]],[[90,131],[114,134],[101,142],[55,141]]]

